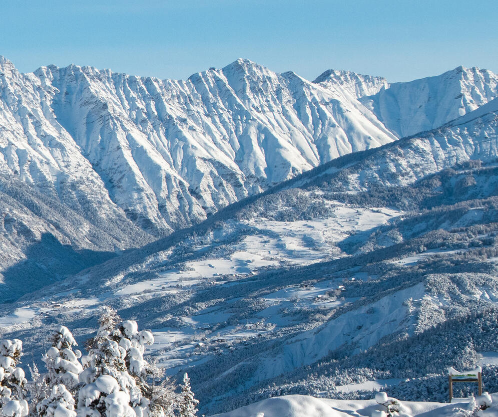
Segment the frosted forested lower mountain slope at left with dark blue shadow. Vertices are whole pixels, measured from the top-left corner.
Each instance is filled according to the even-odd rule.
[[[78,209],[12,175],[0,174],[0,297],[4,302],[151,240],[124,214],[104,224],[94,217],[94,206],[84,196]]]

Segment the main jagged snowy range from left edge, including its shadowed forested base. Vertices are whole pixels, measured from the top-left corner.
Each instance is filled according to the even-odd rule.
[[[247,60],[161,81],[77,66],[21,74],[0,57],[4,296],[395,138],[358,101],[335,97]],[[73,250],[95,254],[68,264]],[[16,266],[28,253],[44,255]],[[38,283],[14,289],[26,274]]]

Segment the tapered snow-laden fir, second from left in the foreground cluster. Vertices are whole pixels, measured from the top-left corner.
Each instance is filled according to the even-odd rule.
[[[78,346],[78,343],[66,326],[59,326],[52,335],[51,342],[52,347],[42,358],[47,367],[45,375],[47,384],[50,388],[64,384],[72,394],[75,394],[79,383],[78,376],[83,371],[83,366],[78,360],[81,358],[81,351],[73,351],[73,346]]]

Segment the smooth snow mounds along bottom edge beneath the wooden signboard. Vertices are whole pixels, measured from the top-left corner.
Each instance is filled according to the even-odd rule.
[[[491,394],[493,403],[498,401],[498,394]],[[467,410],[468,400],[462,402],[414,402],[403,401],[402,414],[423,417],[445,417],[472,415]],[[216,414],[217,417],[370,417],[377,415],[375,411],[381,411],[382,406],[374,399],[371,400],[340,400],[328,398],[315,398],[309,395],[284,395],[281,397],[268,398],[236,410]],[[378,415],[381,415],[379,413]],[[384,414],[385,415],[385,414]],[[498,416],[498,407],[491,406],[485,410],[478,411],[475,415]]]

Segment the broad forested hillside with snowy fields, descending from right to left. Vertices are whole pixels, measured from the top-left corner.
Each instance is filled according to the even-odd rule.
[[[368,397],[376,383],[441,401],[447,366],[498,351],[491,109],[345,155],[27,294],[3,306],[3,325],[27,346],[57,323],[83,341],[111,304],[153,330],[170,374],[189,370],[203,412],[284,393]]]

